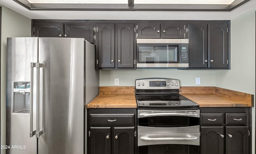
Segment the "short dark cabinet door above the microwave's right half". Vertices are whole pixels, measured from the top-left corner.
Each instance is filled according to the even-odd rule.
[[[163,22],[161,38],[188,38],[184,22]]]

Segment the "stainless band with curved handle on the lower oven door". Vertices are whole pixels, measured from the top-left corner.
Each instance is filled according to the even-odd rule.
[[[156,144],[200,145],[200,133],[138,134],[138,146]]]

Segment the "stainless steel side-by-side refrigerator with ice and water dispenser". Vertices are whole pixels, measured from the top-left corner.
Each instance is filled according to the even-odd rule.
[[[83,154],[84,105],[98,92],[88,41],[7,38],[7,154]]]

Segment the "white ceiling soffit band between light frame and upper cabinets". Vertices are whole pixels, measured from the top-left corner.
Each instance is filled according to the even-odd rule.
[[[256,10],[256,0],[250,0],[231,12],[32,11],[24,8],[13,0],[0,0],[0,4],[30,19],[48,20],[231,20],[250,10]]]

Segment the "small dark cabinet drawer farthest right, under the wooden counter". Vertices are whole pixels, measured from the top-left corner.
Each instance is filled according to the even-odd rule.
[[[226,124],[248,125],[248,113],[226,113]]]

